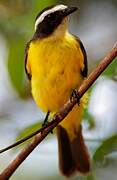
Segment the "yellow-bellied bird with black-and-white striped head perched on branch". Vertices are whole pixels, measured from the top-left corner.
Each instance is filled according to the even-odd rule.
[[[46,113],[44,124],[87,77],[87,55],[81,40],[68,30],[78,8],[51,5],[38,13],[34,34],[25,48],[25,70],[37,106]],[[90,157],[82,135],[85,96],[57,126],[60,172],[71,177],[90,171]]]

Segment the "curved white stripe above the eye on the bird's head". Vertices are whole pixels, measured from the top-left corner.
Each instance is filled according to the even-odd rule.
[[[58,10],[63,10],[63,9],[66,9],[66,8],[67,8],[67,6],[61,4],[61,5],[57,5],[57,6],[53,7],[52,9],[49,9],[49,10],[43,12],[43,13],[37,18],[37,20],[36,20],[36,22],[35,22],[35,31],[36,31],[36,29],[37,29],[38,24],[40,24],[48,14],[53,13],[53,12],[56,12],[56,11],[58,11]]]

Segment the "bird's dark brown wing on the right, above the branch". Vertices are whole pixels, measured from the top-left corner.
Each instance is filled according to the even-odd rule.
[[[86,54],[86,51],[85,51],[82,41],[77,36],[74,36],[74,37],[75,37],[76,41],[78,42],[78,44],[80,45],[81,51],[84,56],[84,69],[81,70],[81,74],[83,77],[87,77],[87,74],[88,74],[87,54]]]

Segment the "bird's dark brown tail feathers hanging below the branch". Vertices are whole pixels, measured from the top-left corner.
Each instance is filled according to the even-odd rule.
[[[57,127],[59,166],[60,171],[66,177],[79,171],[86,174],[90,171],[90,158],[82,136],[82,128],[79,128],[76,137],[70,142],[66,129],[61,125]]]

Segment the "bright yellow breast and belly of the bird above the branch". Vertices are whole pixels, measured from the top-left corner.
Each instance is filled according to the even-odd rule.
[[[64,40],[32,42],[28,64],[32,74],[33,97],[45,112],[57,111],[83,80],[83,55],[70,35]]]

